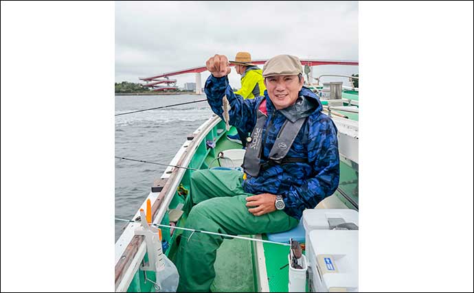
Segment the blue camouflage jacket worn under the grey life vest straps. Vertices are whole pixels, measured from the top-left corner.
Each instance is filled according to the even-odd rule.
[[[235,95],[226,77],[210,75],[205,83],[205,94],[212,111],[223,119],[222,98],[227,95],[231,109],[229,124],[243,132],[251,132],[257,121],[257,109],[267,99],[267,121],[262,132],[261,161],[266,161],[278,132],[286,117],[275,109],[271,99],[264,96],[242,99]],[[319,98],[311,90],[302,88],[300,96],[315,105],[313,113],[306,118],[300,132],[286,156],[307,158],[308,163],[286,163],[261,168],[257,177],[248,176],[243,183],[250,194],[281,194],[284,211],[293,218],[300,218],[304,209],[313,209],[318,202],[332,195],[339,185],[339,150],[337,128],[332,119],[321,113]]]

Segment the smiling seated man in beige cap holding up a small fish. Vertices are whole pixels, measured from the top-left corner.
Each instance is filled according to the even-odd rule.
[[[226,56],[210,58],[206,67],[211,75],[205,93],[214,113],[223,119],[227,96],[230,124],[252,133],[244,174],[234,169],[192,174],[185,226],[232,235],[294,228],[304,209],[316,207],[339,184],[337,128],[321,112],[315,93],[303,87],[300,60],[289,55],[268,60],[263,67],[267,91],[255,99],[232,92]],[[183,233],[176,259],[178,291],[210,292],[222,242],[216,235]]]

